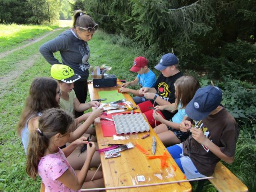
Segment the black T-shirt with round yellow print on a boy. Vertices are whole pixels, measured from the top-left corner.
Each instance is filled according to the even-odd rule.
[[[162,99],[174,103],[175,102],[175,87],[174,83],[177,79],[179,79],[183,74],[181,72],[176,73],[174,76],[165,77],[161,73],[160,76],[157,78],[157,82],[154,86],[154,88],[157,90],[157,95],[159,95]],[[152,103],[154,103],[154,100],[151,100]],[[158,105],[155,103],[155,105]],[[175,113],[171,113],[169,111],[163,110],[161,111],[163,113],[163,116],[166,119],[171,119],[172,116],[175,115]]]

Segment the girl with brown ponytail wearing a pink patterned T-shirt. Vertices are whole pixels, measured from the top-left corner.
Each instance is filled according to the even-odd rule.
[[[27,151],[27,174],[35,179],[38,174],[46,191],[74,192],[81,188],[104,187],[102,172],[94,176],[95,171],[88,171],[95,152],[95,144],[86,141],[86,137],[75,140],[67,147],[70,133],[76,128],[72,116],[61,109],[52,108],[44,111],[38,119],[38,128],[30,134]],[[80,171],[75,172],[68,163],[68,157],[79,145],[87,143],[87,158]],[[85,182],[84,182],[85,181]]]

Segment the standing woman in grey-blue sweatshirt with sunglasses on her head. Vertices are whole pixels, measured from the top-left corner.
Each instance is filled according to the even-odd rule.
[[[80,103],[84,103],[87,97],[87,79],[89,76],[90,49],[87,41],[93,38],[98,24],[81,10],[77,10],[73,16],[73,27],[63,32],[58,37],[43,44],[39,51],[50,64],[61,64],[54,57],[54,52],[60,52],[62,64],[70,66],[81,79],[74,83],[76,97]],[[75,112],[75,116],[81,116],[83,112]]]

